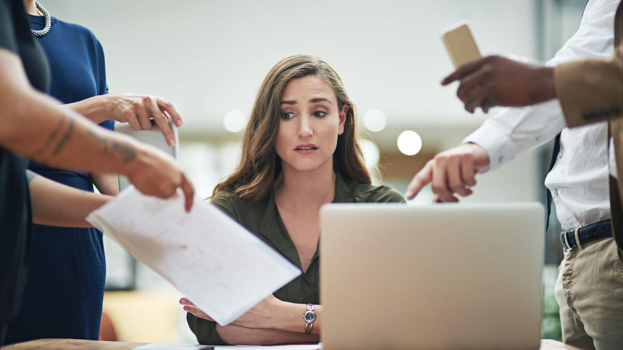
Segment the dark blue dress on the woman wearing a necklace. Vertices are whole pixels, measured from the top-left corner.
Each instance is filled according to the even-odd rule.
[[[33,29],[44,17],[30,16]],[[52,17],[48,34],[39,38],[50,62],[50,95],[72,103],[108,92],[102,45],[88,29]],[[101,124],[112,129],[114,121]],[[86,173],[29,168],[57,182],[93,191]],[[39,338],[95,339],[106,277],[102,233],[33,225],[26,287],[16,318],[9,324],[7,343]]]

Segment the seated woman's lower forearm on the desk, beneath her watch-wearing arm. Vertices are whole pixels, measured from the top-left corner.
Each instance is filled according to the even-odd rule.
[[[302,331],[287,332],[277,329],[265,328],[245,328],[230,324],[220,326],[217,324],[216,331],[223,341],[237,345],[274,345],[274,344],[293,344],[293,343],[318,343],[318,334],[304,334]]]

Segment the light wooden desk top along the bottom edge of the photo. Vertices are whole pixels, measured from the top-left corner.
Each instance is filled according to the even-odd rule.
[[[2,350],[131,350],[149,343],[127,343],[124,341],[93,341],[78,339],[38,339],[2,346]],[[559,341],[541,340],[539,350],[580,350]]]

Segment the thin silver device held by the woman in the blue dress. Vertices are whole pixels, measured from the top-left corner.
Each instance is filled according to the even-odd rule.
[[[151,129],[150,130],[140,130],[134,131],[130,127],[128,123],[115,123],[115,132],[123,133],[125,135],[131,136],[138,141],[141,141],[146,144],[151,144],[166,154],[173,156],[173,158],[178,159],[179,155],[179,136],[178,136],[178,128],[173,123],[173,120],[169,118],[169,126],[171,126],[171,130],[173,130],[173,136],[175,137],[175,146],[171,147],[164,140],[164,136],[160,132],[160,128],[156,125],[156,122],[151,120]],[[127,177],[123,175],[119,175],[119,191],[123,191],[125,187],[130,186],[130,181]]]

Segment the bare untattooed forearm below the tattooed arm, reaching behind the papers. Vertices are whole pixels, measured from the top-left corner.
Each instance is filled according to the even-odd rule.
[[[85,220],[113,197],[82,191],[35,175],[28,184],[32,222],[64,227],[92,227]]]

